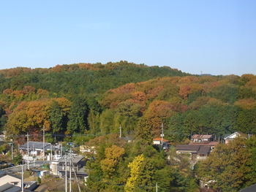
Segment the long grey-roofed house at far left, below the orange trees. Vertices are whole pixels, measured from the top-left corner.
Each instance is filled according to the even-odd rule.
[[[35,155],[37,158],[42,158],[43,151],[46,153],[48,150],[52,150],[55,154],[61,153],[61,147],[59,145],[51,145],[47,142],[29,142],[29,147],[28,143],[20,146],[20,154],[26,156],[28,154],[28,148],[30,156],[29,161],[33,160],[33,155]]]

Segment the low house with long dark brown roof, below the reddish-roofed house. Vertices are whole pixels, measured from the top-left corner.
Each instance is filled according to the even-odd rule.
[[[211,151],[210,146],[203,145],[176,145],[176,153],[186,153],[192,161],[206,159]]]

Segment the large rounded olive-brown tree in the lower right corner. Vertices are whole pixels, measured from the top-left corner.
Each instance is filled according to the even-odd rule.
[[[249,162],[251,153],[247,147],[246,139],[238,137],[228,145],[219,144],[209,157],[200,163],[197,174],[201,180],[214,180],[213,188],[223,192],[239,191],[250,178]]]

